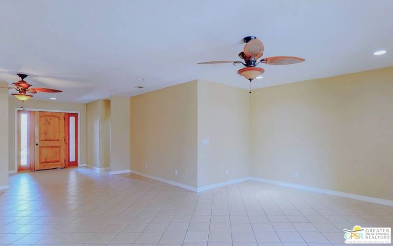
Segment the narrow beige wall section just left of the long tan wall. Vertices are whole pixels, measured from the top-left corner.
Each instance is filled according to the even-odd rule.
[[[130,97],[111,96],[111,171],[130,169]]]

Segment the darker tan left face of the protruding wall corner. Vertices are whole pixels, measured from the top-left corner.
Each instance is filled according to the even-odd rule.
[[[130,98],[130,168],[197,186],[197,81]]]

